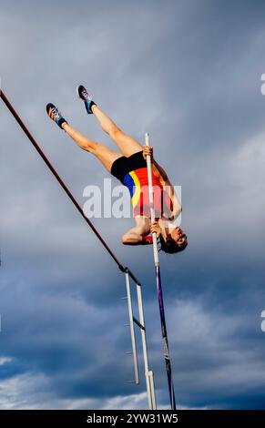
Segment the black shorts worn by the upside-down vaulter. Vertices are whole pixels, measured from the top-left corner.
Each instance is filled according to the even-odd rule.
[[[143,150],[134,153],[128,158],[126,156],[117,158],[113,162],[110,172],[114,177],[123,182],[128,172],[138,168],[147,168],[147,161],[143,157]]]

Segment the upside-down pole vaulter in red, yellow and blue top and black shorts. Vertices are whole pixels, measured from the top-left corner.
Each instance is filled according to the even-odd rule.
[[[70,127],[66,119],[51,103],[47,104],[48,116],[56,122],[58,127],[74,139],[83,150],[96,156],[110,174],[118,178],[129,189],[135,226],[129,229],[122,237],[126,245],[146,245],[152,243],[149,233],[157,233],[160,239],[161,250],[167,253],[176,253],[184,250],[188,245],[187,235],[173,223],[181,212],[181,206],[171,185],[167,173],[152,158],[151,147],[142,147],[139,142],[125,134],[89,97],[83,86],[76,89],[78,97],[84,102],[87,114],[97,117],[102,129],[117,144],[120,152],[114,152],[97,143],[79,131]],[[154,190],[154,207],[156,221],[151,224],[149,197],[148,197],[148,168],[147,156],[152,158],[152,178]]]

